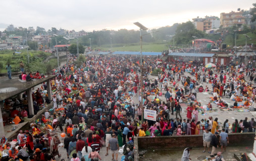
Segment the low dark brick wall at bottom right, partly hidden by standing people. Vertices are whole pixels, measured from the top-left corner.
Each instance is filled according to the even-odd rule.
[[[219,136],[218,136],[219,137]],[[255,133],[234,133],[228,134],[228,146],[252,146]],[[158,136],[158,137],[136,137],[134,141],[141,149],[171,149],[181,147],[202,147],[202,135],[185,135],[185,136]]]

